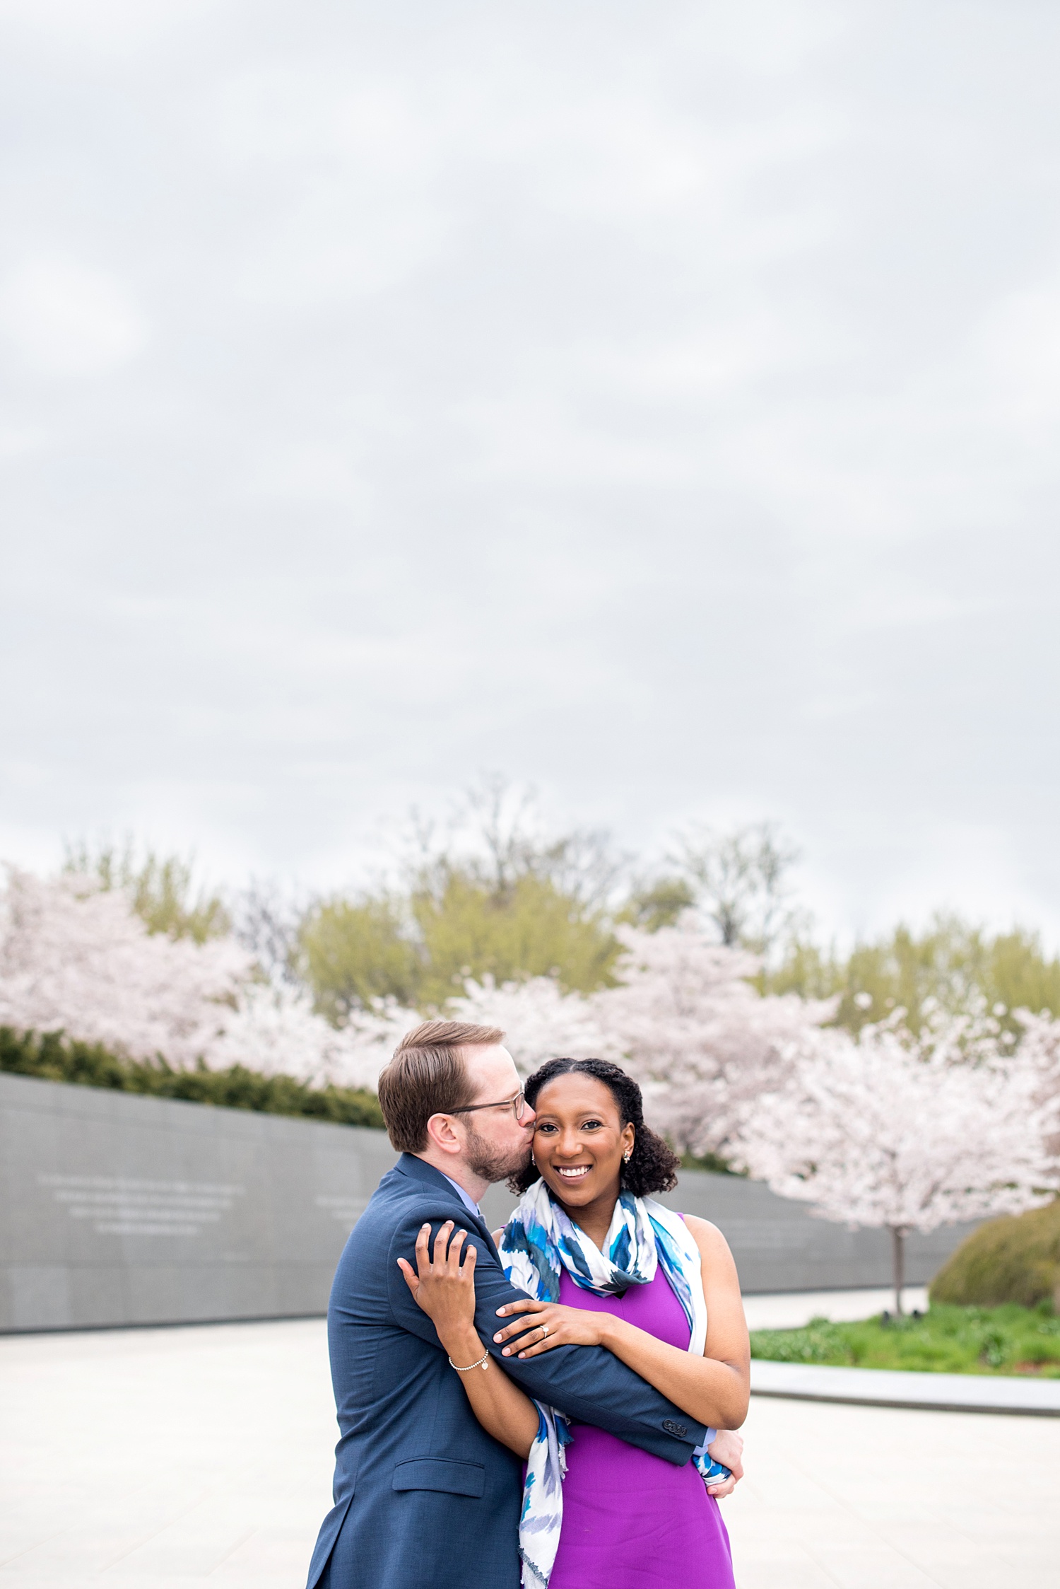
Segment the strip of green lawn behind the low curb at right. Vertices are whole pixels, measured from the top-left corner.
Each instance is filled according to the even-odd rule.
[[[811,1319],[805,1330],[752,1330],[751,1355],[778,1363],[916,1368],[946,1374],[1060,1379],[1060,1317],[1050,1303],[1020,1308],[936,1306],[922,1317],[881,1314],[858,1324]]]

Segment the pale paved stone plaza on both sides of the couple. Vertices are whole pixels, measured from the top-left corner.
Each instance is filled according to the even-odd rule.
[[[1055,1589],[1060,1419],[752,1400],[739,1589]],[[0,1340],[0,1589],[301,1589],[321,1320]]]

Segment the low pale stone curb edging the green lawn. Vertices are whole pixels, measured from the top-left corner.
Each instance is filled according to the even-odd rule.
[[[1004,1374],[931,1374],[898,1368],[827,1368],[751,1360],[751,1394],[795,1401],[847,1401],[931,1413],[1008,1413],[1060,1417],[1060,1379]]]

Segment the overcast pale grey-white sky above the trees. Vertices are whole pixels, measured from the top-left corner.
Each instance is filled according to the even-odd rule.
[[[497,769],[1060,938],[1055,0],[0,14],[0,853]]]

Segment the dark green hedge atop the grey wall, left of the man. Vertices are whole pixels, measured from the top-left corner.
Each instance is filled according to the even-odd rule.
[[[154,1098],[186,1098],[222,1109],[295,1114],[338,1125],[382,1127],[374,1093],[354,1087],[311,1087],[294,1076],[259,1076],[241,1065],[227,1071],[175,1071],[165,1060],[122,1060],[97,1042],[76,1042],[62,1033],[13,1031],[0,1026],[0,1071],[40,1076],[78,1087],[111,1087]]]

